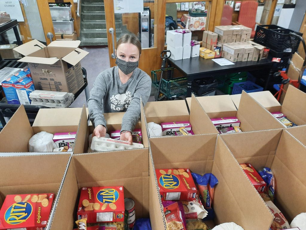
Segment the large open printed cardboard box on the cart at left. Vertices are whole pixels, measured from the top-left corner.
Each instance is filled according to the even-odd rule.
[[[14,48],[29,63],[36,90],[60,91],[75,94],[84,86],[80,65],[88,52],[78,48],[80,41],[53,41],[45,46],[32,40]]]

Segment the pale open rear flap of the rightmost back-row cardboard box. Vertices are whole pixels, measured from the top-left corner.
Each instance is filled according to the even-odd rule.
[[[276,98],[274,98],[274,96],[271,94],[270,91],[248,93],[248,95],[254,98],[260,105],[262,105],[267,110],[272,109],[272,108],[280,109],[281,105],[276,100]],[[240,99],[241,99],[241,94],[233,94],[233,95],[230,95],[230,97],[232,98],[234,104],[236,105],[238,109]],[[275,112],[278,112],[278,111],[275,111]]]

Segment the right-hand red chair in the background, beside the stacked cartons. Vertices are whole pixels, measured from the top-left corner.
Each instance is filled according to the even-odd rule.
[[[251,38],[255,35],[255,25],[261,25],[256,22],[256,12],[257,12],[258,2],[256,0],[242,1],[240,5],[240,11],[238,16],[238,21],[233,23],[233,25],[244,25],[246,27],[252,28]]]

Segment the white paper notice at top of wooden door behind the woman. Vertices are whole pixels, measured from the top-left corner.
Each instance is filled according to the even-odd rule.
[[[144,12],[144,0],[114,0],[114,13]]]

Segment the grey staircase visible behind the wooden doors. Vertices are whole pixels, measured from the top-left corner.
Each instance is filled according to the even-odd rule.
[[[115,15],[115,23],[121,33],[121,15]],[[80,46],[107,45],[107,33],[104,0],[82,0]]]

